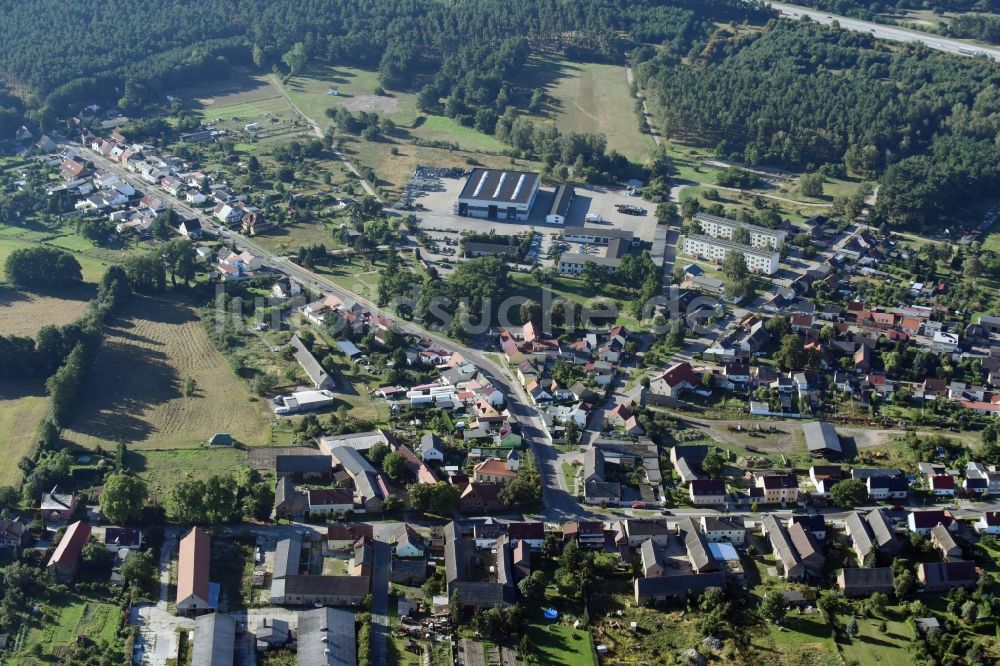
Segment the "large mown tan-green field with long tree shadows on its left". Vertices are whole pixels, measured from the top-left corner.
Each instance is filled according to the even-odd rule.
[[[190,397],[182,394],[187,378]],[[92,449],[198,445],[228,432],[247,445],[267,441],[268,413],[208,339],[182,296],[137,299],[114,323],[83,388],[65,439]]]

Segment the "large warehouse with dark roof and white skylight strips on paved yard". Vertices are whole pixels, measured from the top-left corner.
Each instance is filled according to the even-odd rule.
[[[525,222],[538,197],[539,183],[538,174],[530,171],[473,169],[458,195],[455,212],[481,219]]]

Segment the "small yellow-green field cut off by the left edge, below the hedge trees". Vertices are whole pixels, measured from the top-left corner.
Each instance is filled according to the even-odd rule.
[[[49,400],[42,382],[0,381],[0,485],[16,486],[21,470],[15,461],[34,453],[35,428],[48,412]]]

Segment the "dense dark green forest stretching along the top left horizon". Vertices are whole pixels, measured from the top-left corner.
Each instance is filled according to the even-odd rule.
[[[427,79],[475,103],[499,92],[517,65],[504,56],[522,49],[520,39],[621,58],[630,32],[680,45],[703,36],[712,20],[763,15],[739,0],[716,0],[707,10],[698,0],[4,4],[0,71],[9,88],[39,109],[43,125],[75,112],[82,100],[134,112],[162,101],[168,90],[225,77],[232,65],[270,68],[296,42],[306,58],[378,67],[387,87]]]

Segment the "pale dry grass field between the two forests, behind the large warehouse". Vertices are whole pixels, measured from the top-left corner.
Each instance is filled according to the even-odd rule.
[[[633,113],[624,67],[539,59],[525,76],[525,87],[544,88],[549,97],[544,115],[560,131],[603,134],[609,150],[640,164],[656,150],[652,135],[640,130]]]

